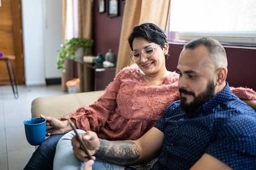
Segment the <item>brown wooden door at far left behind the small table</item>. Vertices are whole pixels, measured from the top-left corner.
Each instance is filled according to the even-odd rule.
[[[1,0],[1,3],[0,52],[4,52],[5,56],[16,56],[13,61],[16,81],[25,84],[21,0]],[[9,79],[9,76],[5,62],[1,61],[0,80],[3,79]]]

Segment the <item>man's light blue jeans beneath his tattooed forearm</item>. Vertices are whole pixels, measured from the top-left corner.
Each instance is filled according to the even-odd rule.
[[[78,133],[85,131],[77,129]],[[56,146],[56,153],[53,161],[53,169],[83,169],[84,163],[80,161],[73,152],[71,139],[75,135],[74,131],[70,131],[62,136]],[[123,170],[125,166],[117,165],[101,158],[96,157],[92,170]]]

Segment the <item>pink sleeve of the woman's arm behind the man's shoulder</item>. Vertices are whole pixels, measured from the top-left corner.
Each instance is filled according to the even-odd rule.
[[[256,92],[245,87],[230,87],[230,90],[237,97],[248,100],[256,100]]]

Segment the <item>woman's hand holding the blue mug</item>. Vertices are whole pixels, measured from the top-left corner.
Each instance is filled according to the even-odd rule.
[[[72,127],[69,124],[68,120],[60,121],[58,119],[55,119],[54,117],[44,116],[42,114],[40,114],[40,117],[45,118],[47,120],[46,130],[48,130],[48,132],[46,133],[46,136],[51,136],[54,134],[63,134],[72,130]]]

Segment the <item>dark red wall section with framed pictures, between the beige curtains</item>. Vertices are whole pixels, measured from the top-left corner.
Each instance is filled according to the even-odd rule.
[[[105,13],[98,13],[98,1],[93,1],[92,38],[94,40],[94,46],[92,52],[95,56],[101,53],[105,57],[108,49],[113,49],[113,53],[117,57],[125,5],[121,0],[118,1],[119,16],[114,18],[107,16],[108,0],[105,1]]]

